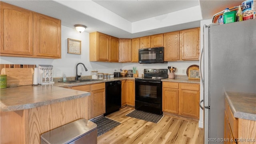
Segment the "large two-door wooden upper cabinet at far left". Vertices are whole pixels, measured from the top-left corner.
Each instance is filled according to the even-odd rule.
[[[61,21],[1,2],[1,56],[61,58]]]

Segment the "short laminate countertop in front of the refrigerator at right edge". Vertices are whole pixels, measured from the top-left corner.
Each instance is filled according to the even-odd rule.
[[[256,121],[256,94],[225,92],[225,98],[235,118]]]

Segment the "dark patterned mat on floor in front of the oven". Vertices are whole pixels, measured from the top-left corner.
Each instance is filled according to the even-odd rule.
[[[164,116],[163,114],[153,114],[150,112],[144,112],[141,110],[134,110],[128,114],[126,114],[126,116],[130,116],[132,118],[138,118],[140,120],[146,120],[148,122],[154,122],[154,123],[158,123],[160,122],[160,120],[162,119],[162,117]]]

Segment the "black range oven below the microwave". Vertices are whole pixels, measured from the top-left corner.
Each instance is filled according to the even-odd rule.
[[[135,78],[135,109],[162,114],[162,81],[167,69],[144,69],[144,78]]]

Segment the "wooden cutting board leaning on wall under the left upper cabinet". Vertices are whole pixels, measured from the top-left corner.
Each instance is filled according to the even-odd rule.
[[[18,84],[26,86],[33,84],[33,68],[2,68],[1,74],[7,75],[7,86]]]

